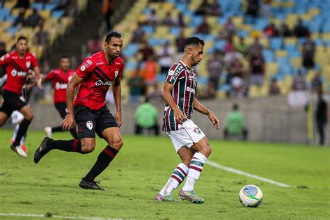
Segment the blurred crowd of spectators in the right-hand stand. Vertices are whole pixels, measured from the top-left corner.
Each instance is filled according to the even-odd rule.
[[[155,1],[153,1],[155,2]],[[184,1],[183,3],[187,3]],[[253,23],[254,19],[262,16],[271,16],[269,0],[264,1],[247,1],[246,8],[246,23]],[[107,10],[103,10],[104,15],[106,11],[111,11],[113,2],[104,0],[103,6]],[[110,13],[111,14],[111,13]],[[196,9],[195,15],[201,15],[203,21],[196,26],[195,32],[202,34],[209,34],[211,26],[207,20],[207,16],[220,16],[222,8],[218,1],[202,1],[201,5]],[[107,16],[110,16],[109,13]],[[109,17],[106,16],[107,21]],[[166,40],[164,45],[152,47],[149,44],[146,26],[156,29],[157,26],[181,27],[180,34],[175,36],[173,42]],[[184,36],[184,27],[187,24],[184,21],[182,12],[175,13],[167,11],[164,18],[159,18],[157,9],[152,8],[150,13],[146,15],[146,19],[139,20],[136,29],[132,33],[130,43],[139,45],[137,53],[134,55],[136,59],[136,68],[132,70],[127,77],[127,86],[129,86],[129,100],[132,102],[141,102],[143,97],[148,97],[151,94],[159,94],[160,89],[157,86],[157,74],[165,76],[168,69],[175,61],[178,61],[183,53],[183,44],[187,36]],[[234,40],[237,38],[239,40]],[[207,59],[207,73],[208,82],[206,86],[198,90],[198,96],[203,99],[213,99],[217,97],[217,91],[223,85],[228,85],[226,95],[232,97],[247,97],[251,86],[261,88],[265,84],[266,74],[266,58],[263,55],[265,44],[260,42],[260,38],[278,38],[278,37],[294,37],[301,39],[301,68],[304,71],[297,71],[292,81],[292,90],[296,90],[297,81],[304,80],[306,83],[306,70],[315,68],[315,42],[311,38],[311,33],[308,30],[304,21],[299,18],[297,24],[293,29],[290,29],[288,24],[282,22],[277,26],[269,22],[265,29],[256,35],[251,45],[246,44],[244,36],[239,35],[239,30],[235,26],[235,22],[231,17],[223,24],[223,29],[219,31],[216,40],[223,40],[226,42],[222,49],[214,49],[210,58]],[[174,47],[173,47],[174,46]],[[102,42],[100,38],[93,38],[88,42],[88,53],[93,54],[102,49]],[[207,53],[207,52],[205,52]],[[318,76],[318,78],[317,78]],[[318,80],[317,80],[318,79]],[[268,80],[268,79],[267,79]],[[311,86],[322,88],[322,77],[320,73],[315,75],[315,81]],[[268,94],[281,95],[280,86],[276,77],[269,79]],[[298,86],[299,87],[299,86]],[[316,88],[315,88],[316,91]],[[157,99],[155,99],[157,100]],[[152,102],[152,100],[151,100]]]

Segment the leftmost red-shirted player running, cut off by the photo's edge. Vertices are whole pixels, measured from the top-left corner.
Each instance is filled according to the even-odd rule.
[[[26,77],[30,68],[36,72],[38,88],[42,88],[42,86],[37,58],[27,52],[27,38],[24,36],[17,38],[16,49],[15,52],[5,54],[0,59],[0,65],[6,65],[7,72],[7,81],[2,94],[4,102],[0,109],[0,127],[6,123],[13,111],[17,110],[23,114],[24,119],[19,124],[16,139],[10,148],[19,156],[26,157],[26,153],[20,146],[20,141],[31,123],[33,113],[26,102],[19,97],[22,95],[22,88],[26,84]]]

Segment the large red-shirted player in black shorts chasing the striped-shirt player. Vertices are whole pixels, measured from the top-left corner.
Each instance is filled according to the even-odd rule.
[[[34,153],[35,163],[38,163],[49,150],[54,149],[86,154],[94,150],[97,133],[107,141],[108,146],[102,150],[91,171],[79,183],[79,187],[84,189],[105,190],[95,182],[95,178],[109,166],[123,146],[119,129],[122,124],[120,77],[123,72],[123,60],[119,57],[122,47],[121,34],[114,31],[108,33],[104,42],[104,52],[86,58],[68,84],[68,114],[63,120],[62,127],[65,130],[72,129],[75,120],[79,139],[55,141],[45,137]],[[105,103],[105,95],[111,84],[116,103],[115,116],[110,113]],[[78,85],[79,92],[73,102],[74,88]]]

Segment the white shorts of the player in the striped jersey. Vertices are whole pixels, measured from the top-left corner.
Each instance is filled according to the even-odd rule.
[[[166,133],[170,136],[176,152],[178,152],[178,150],[183,146],[191,148],[194,143],[198,143],[198,141],[201,141],[201,139],[205,137],[202,130],[195,125],[192,120],[186,120],[182,123],[182,125],[179,125],[179,129],[177,131],[170,131]]]

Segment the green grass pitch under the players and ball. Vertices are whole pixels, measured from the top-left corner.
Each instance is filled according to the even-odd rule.
[[[11,130],[0,130],[0,213],[125,219],[329,218],[329,148],[210,140],[210,161],[292,187],[278,187],[205,165],[195,187],[205,203],[196,205],[154,201],[180,162],[166,136],[123,136],[122,150],[98,177],[108,191],[92,191],[79,189],[78,184],[106,146],[104,141],[97,139],[95,151],[88,155],[54,150],[34,164],[33,151],[43,132],[29,132],[27,159],[10,150],[11,134]],[[70,139],[70,135],[57,133],[54,139]],[[262,190],[259,207],[239,203],[239,189],[246,184],[256,184]],[[178,191],[173,191],[173,196]]]

